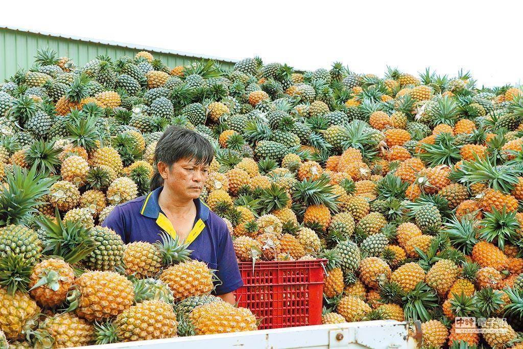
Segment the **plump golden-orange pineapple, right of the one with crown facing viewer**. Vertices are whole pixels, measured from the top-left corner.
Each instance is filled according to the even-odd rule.
[[[115,272],[86,272],[75,280],[78,288],[76,314],[87,321],[118,316],[132,306],[133,284]]]

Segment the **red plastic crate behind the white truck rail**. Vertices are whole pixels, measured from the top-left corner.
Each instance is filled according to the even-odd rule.
[[[325,260],[240,262],[244,286],[236,290],[239,307],[261,318],[258,329],[321,324]]]

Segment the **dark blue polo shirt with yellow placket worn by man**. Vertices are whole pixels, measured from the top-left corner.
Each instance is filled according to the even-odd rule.
[[[160,210],[158,196],[160,187],[146,196],[116,206],[101,224],[120,234],[124,243],[136,241],[155,243],[160,232],[176,234],[167,217]],[[206,262],[209,268],[217,270],[221,285],[214,293],[223,295],[243,286],[231,234],[227,224],[200,199],[195,199],[196,219],[187,237],[192,250],[191,258]]]

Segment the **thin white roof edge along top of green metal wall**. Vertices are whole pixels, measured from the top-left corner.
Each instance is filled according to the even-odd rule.
[[[194,58],[218,60],[218,61],[229,62],[229,63],[236,63],[237,62],[237,60],[232,60],[232,59],[229,59],[229,58],[215,57],[215,56],[199,54],[199,53],[190,53],[190,52],[183,52],[183,51],[176,51],[176,50],[168,50],[168,49],[162,49],[162,48],[158,48],[158,47],[137,45],[137,44],[133,44],[133,43],[118,42],[118,41],[107,41],[107,40],[96,40],[96,39],[90,39],[90,38],[84,38],[84,37],[76,37],[76,36],[70,36],[70,35],[60,35],[60,34],[50,33],[50,32],[46,32],[46,31],[37,31],[37,30],[30,30],[30,29],[25,29],[25,28],[17,28],[17,27],[11,27],[11,26],[0,26],[0,28],[10,29],[10,30],[15,30],[15,31],[29,32],[29,33],[33,33],[33,34],[39,34],[39,35],[44,35],[44,36],[51,36],[51,37],[56,37],[56,38],[63,38],[63,39],[71,39],[71,40],[77,40],[77,41],[100,43],[100,44],[104,44],[104,45],[118,46],[118,47],[124,47],[124,48],[128,48],[128,49],[134,49],[134,50],[143,50],[143,51],[152,51],[152,52],[158,52],[158,53],[177,54],[177,55],[185,56],[185,57],[194,57]]]

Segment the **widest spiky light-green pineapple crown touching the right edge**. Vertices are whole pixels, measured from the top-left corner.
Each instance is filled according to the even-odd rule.
[[[490,156],[480,158],[474,154],[473,161],[464,161],[459,168],[449,174],[451,181],[471,185],[486,183],[489,188],[509,193],[519,182],[521,168],[517,165],[493,165],[494,159]]]

